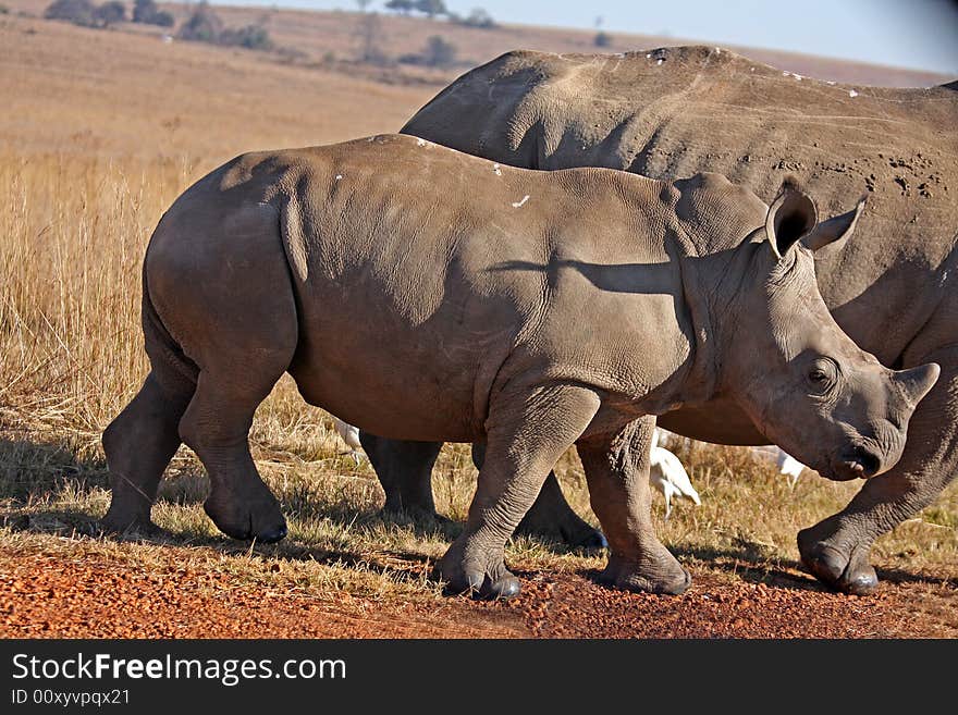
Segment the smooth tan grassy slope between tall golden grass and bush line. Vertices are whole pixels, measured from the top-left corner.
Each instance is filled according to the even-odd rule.
[[[16,157],[177,159],[209,171],[242,151],[395,132],[435,94],[15,15],[0,15],[0,155]]]

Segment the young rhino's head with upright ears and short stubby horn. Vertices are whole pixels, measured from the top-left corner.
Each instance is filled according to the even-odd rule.
[[[728,335],[730,394],[786,452],[834,480],[891,469],[908,420],[938,378],[937,365],[889,370],[861,350],[832,316],[815,283],[813,251],[846,239],[863,208],[818,222],[812,200],[789,185],[764,229],[742,249],[745,305]]]

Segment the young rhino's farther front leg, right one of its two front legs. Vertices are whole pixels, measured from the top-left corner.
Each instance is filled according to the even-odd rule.
[[[581,440],[576,447],[592,510],[609,539],[609,565],[601,580],[629,591],[678,594],[691,576],[652,528],[649,449],[654,428],[654,418],[642,418],[616,434]]]

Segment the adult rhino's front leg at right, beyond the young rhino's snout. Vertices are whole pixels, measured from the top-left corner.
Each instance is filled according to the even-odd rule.
[[[842,511],[798,533],[806,567],[838,591],[872,593],[879,585],[869,562],[875,539],[931,504],[955,478],[958,349],[932,354],[928,359],[942,366],[942,374],[911,416],[900,461],[868,480]]]

